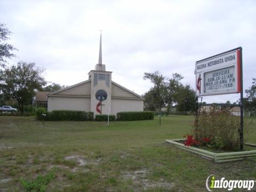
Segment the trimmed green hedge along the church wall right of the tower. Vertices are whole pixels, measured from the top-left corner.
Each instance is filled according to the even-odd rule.
[[[154,111],[124,111],[116,114],[118,121],[153,120]]]

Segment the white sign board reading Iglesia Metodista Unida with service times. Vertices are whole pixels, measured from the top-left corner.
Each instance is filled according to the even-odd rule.
[[[241,92],[240,50],[214,55],[196,62],[196,95]]]

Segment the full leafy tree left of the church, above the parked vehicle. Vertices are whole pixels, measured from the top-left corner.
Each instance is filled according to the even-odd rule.
[[[42,77],[43,69],[35,63],[18,62],[0,70],[0,91],[4,98],[13,98],[18,101],[19,109],[24,111],[24,105],[30,104],[36,91],[46,85]]]

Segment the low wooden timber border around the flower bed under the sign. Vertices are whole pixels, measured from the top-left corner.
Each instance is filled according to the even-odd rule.
[[[207,150],[199,149],[197,147],[192,147],[192,146],[186,146],[183,143],[180,143],[182,141],[184,142],[185,139],[172,139],[172,140],[165,140],[165,141],[181,149],[201,155],[202,157],[210,159],[215,163],[241,161],[246,158],[256,157],[256,150],[237,151],[237,152],[229,152],[229,153],[213,153]],[[250,143],[244,143],[244,145],[249,145],[254,147],[256,146]]]

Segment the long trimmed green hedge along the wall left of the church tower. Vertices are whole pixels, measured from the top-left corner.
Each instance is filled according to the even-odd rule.
[[[43,117],[43,114],[46,114]],[[77,111],[77,110],[53,110],[48,112],[45,108],[36,110],[37,119],[46,121],[92,121],[93,112]]]

